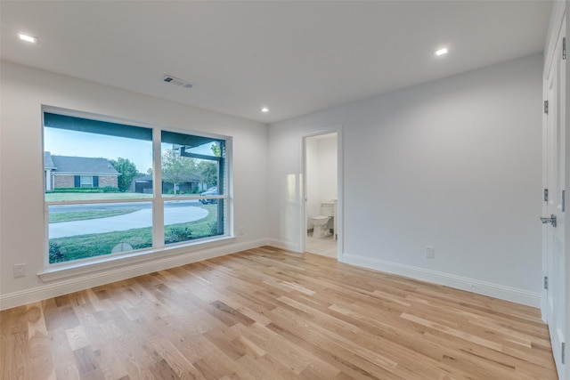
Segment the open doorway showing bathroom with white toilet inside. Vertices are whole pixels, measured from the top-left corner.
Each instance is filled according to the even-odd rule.
[[[338,132],[305,136],[304,158],[303,251],[338,259]]]

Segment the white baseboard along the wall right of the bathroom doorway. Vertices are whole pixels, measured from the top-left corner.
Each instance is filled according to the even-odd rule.
[[[489,295],[513,303],[522,303],[536,308],[541,307],[542,296],[540,293],[533,293],[516,287],[505,287],[503,285],[493,284],[491,282],[481,281],[478,279],[469,279],[467,277],[455,276],[440,271],[430,271],[423,268],[387,262],[360,255],[344,254],[342,255],[342,262],[376,271],[385,271],[387,273],[393,273],[409,277],[411,279],[421,279],[423,281],[465,290],[478,295]]]

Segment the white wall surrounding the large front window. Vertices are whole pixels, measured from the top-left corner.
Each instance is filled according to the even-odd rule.
[[[96,85],[72,77],[2,62],[2,141],[0,150],[0,307],[128,278],[191,262],[210,255],[264,245],[268,230],[265,205],[267,126],[182,104]],[[234,222],[238,233],[227,245],[180,254],[169,260],[126,265],[118,271],[43,283],[44,269],[43,149],[41,106],[92,112],[176,130],[233,137]],[[255,191],[254,191],[255,190]],[[255,209],[255,213],[251,210]],[[27,276],[14,279],[12,267],[26,263]]]

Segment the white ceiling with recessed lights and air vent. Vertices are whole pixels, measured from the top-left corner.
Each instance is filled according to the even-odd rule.
[[[0,46],[5,61],[273,123],[540,53],[550,8],[550,1],[3,0]],[[21,32],[39,44],[21,42]],[[436,58],[441,46],[450,53]],[[194,87],[167,85],[165,74]]]

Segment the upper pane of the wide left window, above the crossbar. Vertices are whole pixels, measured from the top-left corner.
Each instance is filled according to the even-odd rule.
[[[135,186],[151,174],[151,128],[48,112],[44,125],[46,201],[151,197],[151,181]]]

